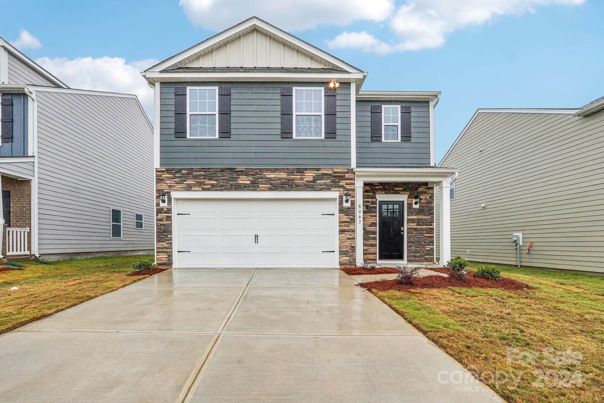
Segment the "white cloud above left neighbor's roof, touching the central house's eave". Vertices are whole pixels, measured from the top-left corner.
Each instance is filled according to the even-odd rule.
[[[136,94],[150,120],[153,121],[153,89],[141,76],[141,71],[155,65],[158,60],[145,59],[126,63],[121,57],[65,57],[37,59],[43,68],[50,71],[71,88],[95,91]]]

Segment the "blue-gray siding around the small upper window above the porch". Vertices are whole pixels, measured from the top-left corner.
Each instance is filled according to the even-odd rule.
[[[371,141],[371,105],[411,106],[411,141],[400,143]],[[356,102],[356,166],[429,167],[429,102],[358,100]]]

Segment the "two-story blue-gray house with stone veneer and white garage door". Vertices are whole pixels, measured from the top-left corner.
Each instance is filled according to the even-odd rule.
[[[440,92],[361,91],[367,73],[255,17],[142,74],[158,263],[434,261],[434,185],[448,194],[456,172],[435,167]]]

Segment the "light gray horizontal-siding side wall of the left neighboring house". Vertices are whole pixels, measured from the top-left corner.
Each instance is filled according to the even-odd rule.
[[[39,253],[154,248],[153,132],[135,98],[36,91]],[[111,208],[123,238],[111,239]],[[144,214],[144,229],[135,228]]]

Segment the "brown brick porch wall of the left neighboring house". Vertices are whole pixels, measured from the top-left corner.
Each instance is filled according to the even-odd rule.
[[[31,251],[31,181],[2,176],[2,190],[10,191],[10,226],[30,228],[27,246]],[[6,225],[2,228],[2,256],[6,256],[6,228]]]

